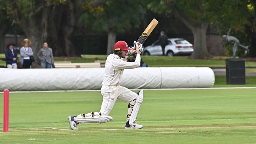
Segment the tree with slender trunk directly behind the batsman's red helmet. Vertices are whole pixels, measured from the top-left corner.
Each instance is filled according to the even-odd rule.
[[[85,13],[80,20],[93,31],[108,33],[107,54],[113,53],[117,33],[124,33],[131,28],[138,28],[145,8],[143,0],[108,0],[91,13]]]

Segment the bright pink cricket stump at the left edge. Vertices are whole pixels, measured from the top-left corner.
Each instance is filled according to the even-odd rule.
[[[9,90],[4,90],[4,127],[3,132],[9,131]]]

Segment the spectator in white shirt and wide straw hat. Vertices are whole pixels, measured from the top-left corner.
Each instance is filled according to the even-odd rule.
[[[20,63],[22,64],[22,68],[30,68],[32,62],[30,60],[30,56],[33,56],[31,41],[29,39],[24,39],[22,42],[22,47],[20,48]]]

